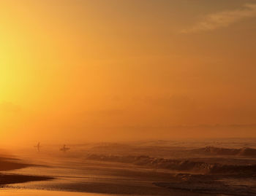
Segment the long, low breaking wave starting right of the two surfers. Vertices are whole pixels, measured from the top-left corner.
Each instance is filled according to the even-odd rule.
[[[176,170],[179,172],[182,171],[209,174],[228,173],[239,175],[251,175],[256,173],[256,165],[222,165],[220,163],[209,163],[192,160],[173,160],[148,156],[115,156],[90,154],[88,155],[87,159],[107,162],[132,163],[135,165],[141,165],[150,168]]]

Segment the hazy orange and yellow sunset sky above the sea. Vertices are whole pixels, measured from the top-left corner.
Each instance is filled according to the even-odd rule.
[[[1,0],[0,142],[256,137],[256,1]]]

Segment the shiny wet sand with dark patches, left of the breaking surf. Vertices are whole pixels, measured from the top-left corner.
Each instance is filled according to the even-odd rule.
[[[48,160],[48,167],[23,165],[3,172],[0,195],[198,195],[154,185],[154,181],[166,181],[169,174],[148,168],[67,157],[33,159],[33,163]],[[54,178],[49,181],[51,178],[44,176]]]

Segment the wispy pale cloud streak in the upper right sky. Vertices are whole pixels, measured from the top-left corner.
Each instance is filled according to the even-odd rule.
[[[184,34],[212,31],[218,28],[223,28],[232,25],[246,18],[256,17],[256,4],[245,4],[241,9],[227,10],[217,12],[211,15],[206,15],[203,19],[196,23],[191,28],[181,31]]]

